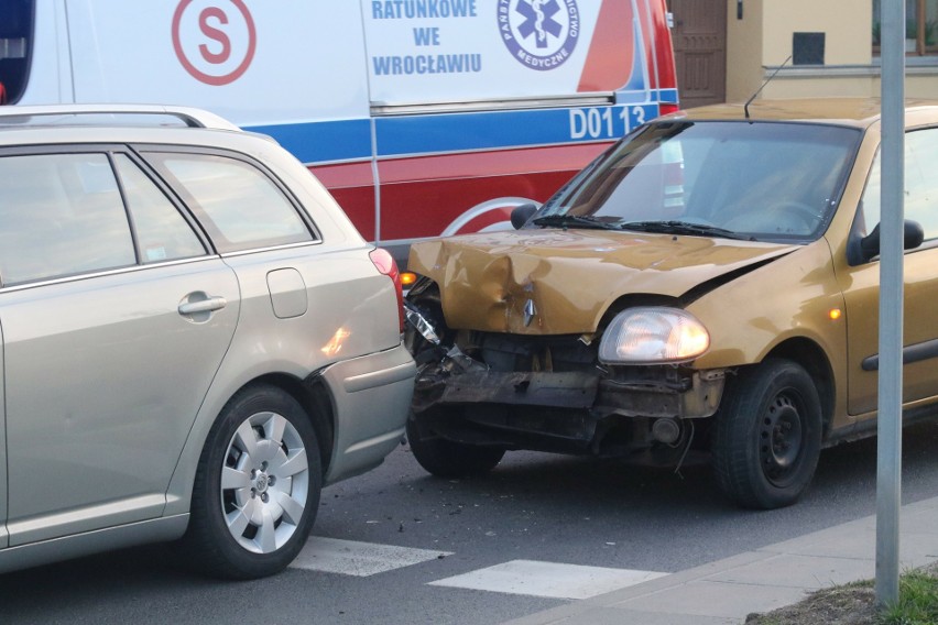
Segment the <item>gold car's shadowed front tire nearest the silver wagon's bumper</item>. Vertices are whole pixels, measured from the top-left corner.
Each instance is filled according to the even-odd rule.
[[[407,442],[421,467],[439,478],[471,478],[483,475],[498,467],[504,449],[447,440],[441,437],[425,438],[411,415],[407,419]]]

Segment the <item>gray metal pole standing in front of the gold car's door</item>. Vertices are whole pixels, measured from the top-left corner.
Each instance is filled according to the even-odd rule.
[[[876,603],[898,601],[902,500],[905,0],[882,0],[882,216],[876,445]]]

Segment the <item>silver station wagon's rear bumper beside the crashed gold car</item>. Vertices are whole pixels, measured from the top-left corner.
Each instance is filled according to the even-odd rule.
[[[404,436],[416,366],[403,346],[336,363],[320,376],[332,395],[336,436],[325,483],[380,464]]]

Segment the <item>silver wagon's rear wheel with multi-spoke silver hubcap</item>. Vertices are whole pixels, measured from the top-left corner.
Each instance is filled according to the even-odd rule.
[[[315,520],[321,468],[316,431],[296,399],[269,385],[239,392],[205,442],[184,557],[226,579],[283,570]]]

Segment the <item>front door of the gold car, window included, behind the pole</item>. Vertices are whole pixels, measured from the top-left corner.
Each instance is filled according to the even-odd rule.
[[[905,218],[925,230],[925,242],[904,256],[905,320],[903,401],[938,396],[938,129],[905,135]],[[880,157],[873,164],[858,223],[863,234],[880,221]],[[865,224],[865,228],[862,228]],[[879,355],[879,257],[850,268],[843,281],[848,314],[849,412],[871,415],[876,409]]]

